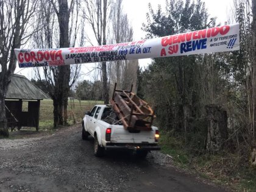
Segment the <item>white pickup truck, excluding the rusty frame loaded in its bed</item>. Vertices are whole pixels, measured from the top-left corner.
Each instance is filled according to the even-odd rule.
[[[82,121],[82,139],[94,138],[94,155],[101,157],[110,149],[132,149],[140,158],[149,151],[160,150],[158,128],[126,130],[111,105],[95,105]]]

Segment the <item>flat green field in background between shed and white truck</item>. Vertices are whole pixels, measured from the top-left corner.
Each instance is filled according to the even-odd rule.
[[[68,123],[80,123],[85,112],[91,110],[94,105],[103,104],[102,101],[68,101]],[[72,106],[71,106],[72,105]],[[39,129],[52,129],[53,127],[53,105],[51,99],[44,99],[40,104]]]

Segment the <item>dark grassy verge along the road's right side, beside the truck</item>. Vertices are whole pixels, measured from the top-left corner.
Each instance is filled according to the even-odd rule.
[[[170,155],[174,165],[181,169],[235,191],[256,191],[256,169],[246,166],[249,164],[248,160],[238,154],[229,151],[214,155],[207,152],[195,154],[186,146],[183,138],[163,131],[160,132],[159,143],[161,151]]]

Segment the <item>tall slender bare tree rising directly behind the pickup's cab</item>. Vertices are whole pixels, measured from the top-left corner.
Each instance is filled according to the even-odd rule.
[[[87,13],[85,18],[93,29],[94,36],[98,45],[107,43],[106,30],[107,30],[107,9],[109,3],[107,0],[85,0]],[[104,103],[108,104],[109,93],[107,83],[107,66],[106,62],[101,63],[101,78],[103,87]]]

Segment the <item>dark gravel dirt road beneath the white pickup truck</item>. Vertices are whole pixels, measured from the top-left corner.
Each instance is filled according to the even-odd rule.
[[[224,191],[177,171],[160,152],[146,160],[124,152],[94,157],[93,138],[82,140],[80,131],[0,140],[0,191]]]

